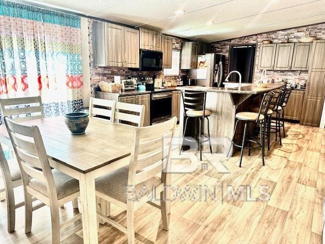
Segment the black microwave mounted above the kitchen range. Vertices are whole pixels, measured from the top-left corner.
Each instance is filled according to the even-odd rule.
[[[140,70],[163,70],[163,52],[140,49]]]

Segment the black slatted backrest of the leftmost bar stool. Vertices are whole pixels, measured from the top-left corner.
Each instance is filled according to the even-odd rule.
[[[203,111],[205,114],[205,102],[207,92],[194,92],[192,90],[185,90],[181,92],[184,105],[184,116],[188,110]]]

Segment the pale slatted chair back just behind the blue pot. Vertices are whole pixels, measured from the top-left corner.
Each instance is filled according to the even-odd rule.
[[[100,99],[100,98],[90,98],[89,101],[89,116],[99,116],[101,118],[109,118],[114,121],[114,111],[115,111],[115,101]]]

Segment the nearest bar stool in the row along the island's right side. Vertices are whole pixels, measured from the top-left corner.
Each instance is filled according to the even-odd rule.
[[[228,155],[230,154],[231,148],[232,146],[237,146],[241,148],[241,152],[240,152],[240,161],[239,161],[239,167],[241,167],[242,165],[242,159],[243,159],[243,151],[244,148],[248,148],[249,149],[249,153],[250,153],[250,149],[253,148],[257,148],[257,147],[261,147],[261,151],[262,151],[262,164],[263,166],[265,165],[264,163],[264,140],[265,140],[265,131],[266,131],[266,116],[270,107],[270,102],[272,100],[274,96],[274,93],[268,93],[268,94],[264,94],[263,98],[262,98],[262,102],[261,105],[259,106],[259,110],[257,113],[255,112],[239,112],[236,113],[236,124],[235,124],[235,130],[234,130],[234,135],[233,138],[231,140],[231,145],[228,151]],[[236,134],[236,129],[237,129],[237,125],[239,121],[244,121],[245,122],[245,127],[244,127],[244,134],[243,134],[243,140],[241,145],[236,144],[234,142],[234,138],[235,138],[235,134]],[[252,123],[256,123],[259,124],[259,139],[260,142],[252,140],[251,137],[249,137],[248,139],[246,139],[246,132],[247,132],[247,124],[249,124],[251,126]],[[245,146],[245,142],[249,143],[249,146]],[[250,144],[251,143],[255,143],[257,144],[257,146],[252,147]]]

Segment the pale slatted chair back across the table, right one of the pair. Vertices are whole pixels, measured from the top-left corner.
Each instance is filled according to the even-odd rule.
[[[121,123],[143,127],[145,106],[132,103],[115,103],[114,120],[112,123]]]

